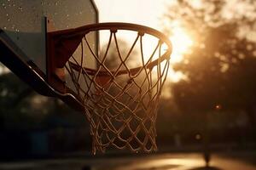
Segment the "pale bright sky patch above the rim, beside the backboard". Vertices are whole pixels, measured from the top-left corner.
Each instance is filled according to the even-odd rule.
[[[95,0],[101,22],[131,22],[160,29],[170,0]]]

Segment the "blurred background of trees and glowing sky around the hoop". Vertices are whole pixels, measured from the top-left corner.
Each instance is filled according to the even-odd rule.
[[[172,66],[157,118],[159,153],[184,158],[201,152],[206,161],[210,153],[224,153],[255,165],[256,1],[148,2],[129,1],[137,7],[134,19],[124,1],[96,0],[101,21],[144,24],[172,40]],[[150,10],[154,18],[147,16]],[[4,65],[0,82],[1,161],[90,157],[83,113],[37,94]]]

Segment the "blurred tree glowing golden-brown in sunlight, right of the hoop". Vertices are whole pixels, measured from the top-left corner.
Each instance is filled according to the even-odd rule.
[[[165,16],[166,31],[182,26],[195,39],[192,52],[174,65],[187,77],[172,87],[177,105],[200,115],[219,108],[247,111],[254,126],[256,40],[248,36],[256,31],[254,2],[239,2],[243,12],[227,0],[175,2]]]

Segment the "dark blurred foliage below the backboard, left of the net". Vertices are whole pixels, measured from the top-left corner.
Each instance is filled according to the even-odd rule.
[[[56,116],[70,124],[83,121],[84,115],[74,114],[59,99],[37,94],[9,71],[0,73],[0,96],[1,130],[45,128]]]

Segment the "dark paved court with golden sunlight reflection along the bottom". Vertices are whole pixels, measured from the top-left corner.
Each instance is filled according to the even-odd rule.
[[[72,158],[0,163],[1,170],[256,170],[256,153],[217,154],[205,168],[201,154],[159,154],[112,158]],[[85,170],[86,168],[84,168]]]

